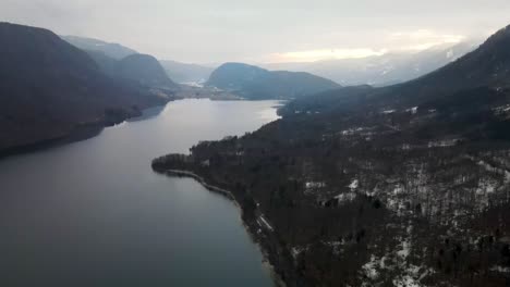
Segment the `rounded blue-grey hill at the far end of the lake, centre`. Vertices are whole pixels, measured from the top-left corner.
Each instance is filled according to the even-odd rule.
[[[337,83],[303,72],[270,72],[243,63],[226,63],[206,83],[251,100],[293,99],[339,88]]]

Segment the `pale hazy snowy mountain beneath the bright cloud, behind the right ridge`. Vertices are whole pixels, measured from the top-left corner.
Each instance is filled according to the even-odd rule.
[[[269,70],[303,71],[330,78],[343,86],[387,86],[428,74],[476,49],[478,41],[441,45],[420,52],[390,52],[362,59],[312,63],[275,63]]]

